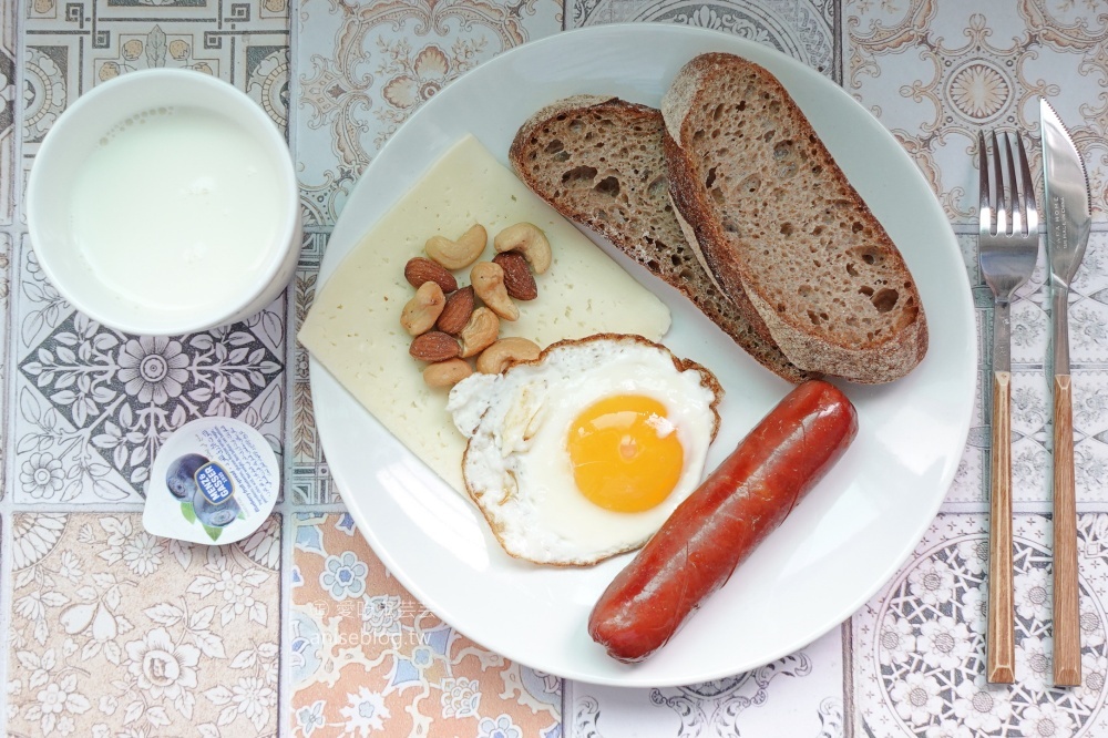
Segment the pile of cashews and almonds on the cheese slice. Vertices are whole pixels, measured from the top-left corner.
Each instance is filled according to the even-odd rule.
[[[535,274],[546,271],[553,255],[541,228],[516,223],[495,238],[496,256],[479,260],[488,243],[484,226],[476,224],[458,239],[435,235],[427,240],[427,256],[404,265],[404,278],[416,295],[404,305],[400,325],[412,336],[408,352],[428,362],[423,381],[448,388],[476,370],[499,373],[516,361],[536,359],[540,348],[525,338],[500,338],[501,320],[520,317],[516,301],[538,297]],[[451,271],[470,267],[470,284],[459,287]]]

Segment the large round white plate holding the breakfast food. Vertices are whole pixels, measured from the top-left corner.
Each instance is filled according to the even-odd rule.
[[[677,25],[568,31],[489,61],[420,109],[366,171],[335,228],[326,280],[375,221],[465,133],[506,164],[524,120],[575,93],[657,105],[677,70],[706,51],[768,68],[899,244],[931,329],[924,361],[882,387],[848,386],[853,447],[693,621],[646,662],[611,659],[585,631],[589,609],[628,556],[588,570],[506,556],[475,509],[311,365],[316,421],[350,513],[406,587],[473,640],[543,672],[596,684],[671,686],[727,676],[792,653],[838,626],[907,557],[954,476],[970,427],[976,367],[965,267],[946,217],[901,146],[811,69],[766,47]],[[789,387],[742,353],[675,290],[606,243],[674,312],[664,339],[711,368],[727,390],[714,468]]]

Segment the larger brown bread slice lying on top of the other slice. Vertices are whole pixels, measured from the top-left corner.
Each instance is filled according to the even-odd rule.
[[[661,113],[690,243],[793,363],[876,383],[923,359],[927,322],[903,257],[777,78],[704,54]]]

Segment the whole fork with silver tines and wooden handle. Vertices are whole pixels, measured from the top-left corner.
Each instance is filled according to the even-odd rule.
[[[1038,258],[1038,208],[1035,182],[1018,134],[1016,158],[1004,134],[1003,146],[992,139],[992,166],[985,136],[977,133],[981,174],[981,232],[977,253],[985,284],[993,291],[993,438],[989,491],[988,623],[986,670],[988,681],[1015,680],[1015,632],[1012,590],[1012,296],[1035,269]],[[1002,166],[1002,148],[1005,166]],[[1007,175],[1005,177],[1005,175]],[[989,186],[992,185],[992,186]]]

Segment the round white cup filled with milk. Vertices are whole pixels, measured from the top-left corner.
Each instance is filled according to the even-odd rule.
[[[132,72],[82,95],[42,142],[27,203],[58,291],[129,334],[247,318],[300,252],[285,140],[246,94],[199,72]]]

